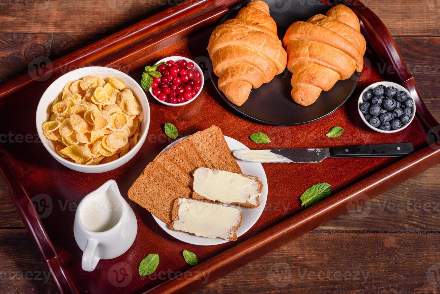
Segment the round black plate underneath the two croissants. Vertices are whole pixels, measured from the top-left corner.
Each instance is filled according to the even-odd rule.
[[[234,18],[248,2],[231,9],[220,19],[219,24]],[[280,40],[293,22],[306,21],[318,13],[326,14],[330,9],[329,5],[319,0],[264,0],[264,2],[270,7],[270,14],[277,24]],[[211,81],[224,101],[245,118],[266,125],[302,125],[324,118],[341,107],[356,89],[359,77],[360,73],[355,72],[347,80],[338,81],[333,88],[327,92],[323,91],[316,102],[307,107],[297,104],[290,96],[292,74],[287,69],[269,83],[261,85],[258,89],[252,89],[249,99],[242,106],[236,106],[224,96],[217,87],[216,75],[211,74]]]

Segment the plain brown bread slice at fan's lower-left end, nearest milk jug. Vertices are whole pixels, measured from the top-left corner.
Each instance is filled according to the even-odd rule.
[[[128,198],[171,224],[174,200],[190,198],[192,190],[180,183],[158,162],[150,162],[128,190]]]

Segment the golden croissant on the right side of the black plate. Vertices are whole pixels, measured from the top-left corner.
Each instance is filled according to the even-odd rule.
[[[345,5],[332,7],[326,15],[307,22],[294,22],[282,40],[287,69],[293,73],[292,98],[308,106],[339,80],[362,71],[366,42],[359,19]]]

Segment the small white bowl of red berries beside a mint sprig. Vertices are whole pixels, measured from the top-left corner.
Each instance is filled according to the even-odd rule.
[[[165,62],[158,67],[161,77],[154,77],[150,94],[168,106],[182,106],[194,101],[202,92],[204,77],[197,63],[182,56],[171,56],[159,60]]]

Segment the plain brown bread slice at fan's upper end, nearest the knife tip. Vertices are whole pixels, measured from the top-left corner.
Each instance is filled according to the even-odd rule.
[[[219,127],[213,125],[204,131],[196,132],[189,136],[188,140],[191,140],[210,169],[242,173]]]

